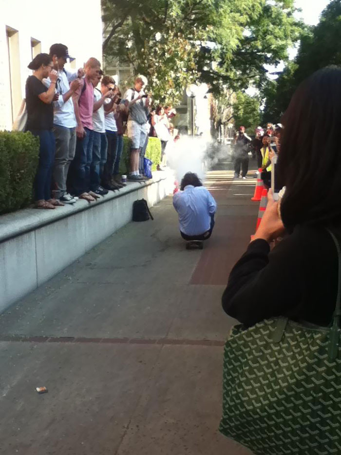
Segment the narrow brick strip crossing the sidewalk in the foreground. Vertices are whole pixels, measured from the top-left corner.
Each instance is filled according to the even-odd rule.
[[[83,336],[25,336],[0,335],[0,341],[20,341],[31,343],[106,343],[106,344],[161,344],[187,346],[224,346],[224,340],[195,340],[175,338],[86,338]]]

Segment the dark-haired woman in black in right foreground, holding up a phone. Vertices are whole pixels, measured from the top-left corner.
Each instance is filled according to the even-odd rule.
[[[326,228],[341,239],[340,119],[341,69],[323,68],[301,83],[284,113],[276,165],[284,196],[279,204],[269,190],[222,297],[225,312],[247,327],[280,315],[320,326],[332,319],[340,265]]]

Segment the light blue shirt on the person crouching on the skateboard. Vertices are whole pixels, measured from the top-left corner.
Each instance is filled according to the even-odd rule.
[[[173,206],[179,215],[180,231],[188,236],[204,234],[210,228],[211,215],[217,203],[203,186],[187,185],[173,196]]]

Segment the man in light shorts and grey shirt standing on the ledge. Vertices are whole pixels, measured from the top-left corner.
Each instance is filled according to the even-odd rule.
[[[137,76],[135,78],[134,88],[127,90],[124,95],[124,98],[129,101],[127,129],[128,138],[132,141],[128,180],[135,182],[144,180],[138,170],[140,149],[144,146],[147,136],[146,123],[149,114],[149,98],[143,92],[143,86],[145,85],[144,79],[143,76]]]

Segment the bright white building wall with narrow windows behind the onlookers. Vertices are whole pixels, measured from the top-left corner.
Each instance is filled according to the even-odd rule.
[[[76,58],[67,69],[90,57],[102,61],[101,3],[0,0],[0,12],[0,130],[11,130],[32,74],[27,65],[37,54],[62,43]]]

